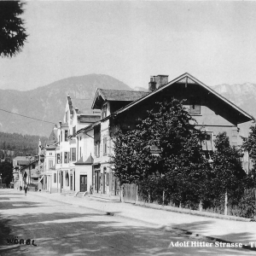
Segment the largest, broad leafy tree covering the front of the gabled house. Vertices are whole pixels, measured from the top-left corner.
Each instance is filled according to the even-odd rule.
[[[135,130],[116,134],[115,175],[120,183],[159,183],[166,197],[179,202],[199,202],[207,169],[200,137],[183,102],[159,102]],[[152,147],[160,154],[152,154]]]

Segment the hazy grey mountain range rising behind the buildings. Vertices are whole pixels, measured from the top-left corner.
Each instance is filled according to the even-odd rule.
[[[63,119],[67,95],[87,99],[85,108],[90,108],[97,88],[147,90],[143,87],[131,89],[127,84],[104,74],[61,79],[34,90],[0,90],[0,131],[49,137],[54,123]],[[256,117],[256,84],[218,84],[212,89]],[[250,125],[245,125],[247,130]]]

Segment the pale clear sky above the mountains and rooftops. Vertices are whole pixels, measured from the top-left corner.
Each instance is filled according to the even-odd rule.
[[[22,52],[0,59],[0,89],[107,74],[131,87],[190,73],[256,84],[256,2],[29,1]]]

